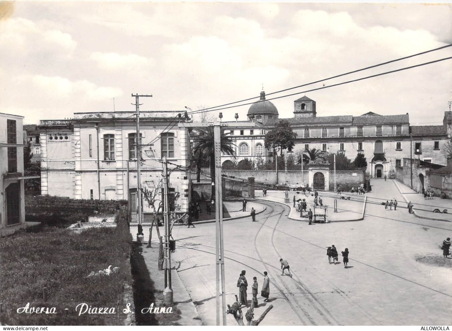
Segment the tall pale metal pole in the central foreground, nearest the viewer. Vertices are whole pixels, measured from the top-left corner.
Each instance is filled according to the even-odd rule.
[[[221,301],[223,325],[226,325],[226,288],[223,241],[223,197],[221,187],[221,126],[216,122],[213,126],[215,146],[215,233],[217,251],[217,325],[220,325],[220,269],[221,269]]]

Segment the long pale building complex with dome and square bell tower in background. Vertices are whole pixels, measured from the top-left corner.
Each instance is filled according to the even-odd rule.
[[[417,157],[425,162],[446,165],[444,146],[447,143],[447,116],[442,126],[410,126],[408,113],[382,116],[367,112],[361,116],[317,116],[316,102],[306,96],[294,101],[292,118],[286,118],[297,133],[294,152],[320,149],[344,153],[355,159],[358,153],[367,160],[371,177],[395,176],[404,158]],[[245,122],[227,122],[238,147],[237,160],[273,159],[273,151],[261,149],[265,133],[279,121],[276,107],[265,99],[251,105],[248,111],[250,128]],[[252,126],[252,128],[251,128]],[[259,128],[259,129],[258,129]],[[256,130],[258,129],[258,130]],[[223,155],[223,162],[232,158]]]

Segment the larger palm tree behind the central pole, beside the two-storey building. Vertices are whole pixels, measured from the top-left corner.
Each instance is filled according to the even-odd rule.
[[[197,135],[193,137],[193,155],[203,155],[210,160],[210,176],[212,181],[215,176],[215,148],[213,127],[208,126],[205,129],[196,129]],[[229,133],[222,129],[220,133],[220,148],[223,154],[235,156],[234,142]]]

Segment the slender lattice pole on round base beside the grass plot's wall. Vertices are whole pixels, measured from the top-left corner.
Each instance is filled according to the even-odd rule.
[[[171,252],[170,252],[170,200],[168,198],[168,161],[166,157],[163,163],[163,220],[165,222],[165,289],[163,302],[170,306],[173,304],[173,289],[171,286]]]

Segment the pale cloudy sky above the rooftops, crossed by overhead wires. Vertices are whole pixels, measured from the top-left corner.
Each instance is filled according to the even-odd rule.
[[[254,98],[452,43],[452,5],[0,2],[0,112],[25,124],[74,112],[185,111]],[[306,95],[317,116],[410,114],[440,125],[452,60],[328,87],[452,56],[452,47],[268,95],[293,117]],[[310,89],[324,87],[317,91]],[[250,101],[249,101],[250,102]],[[240,103],[239,103],[240,104]],[[246,120],[249,105],[224,109]],[[218,116],[218,112],[212,112]]]

